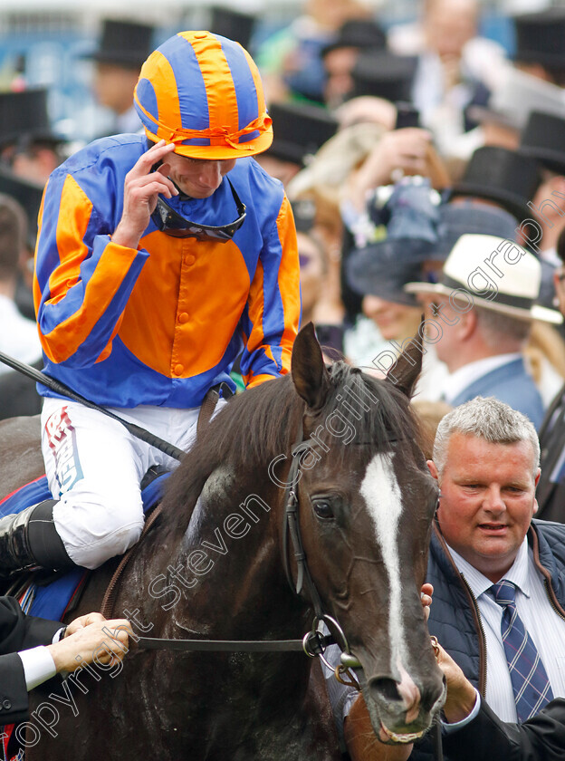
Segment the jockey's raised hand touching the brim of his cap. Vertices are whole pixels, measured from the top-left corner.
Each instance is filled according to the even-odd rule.
[[[175,149],[174,143],[159,140],[136,161],[124,181],[124,207],[120,223],[112,238],[113,243],[137,248],[139,240],[149,224],[160,194],[166,198],[178,195],[177,188],[167,177],[168,165],[162,164],[154,172],[151,169],[159,161],[165,161]]]

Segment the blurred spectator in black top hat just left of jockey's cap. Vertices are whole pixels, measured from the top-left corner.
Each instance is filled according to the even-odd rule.
[[[99,103],[111,112],[104,135],[139,132],[141,122],[133,107],[133,90],[141,64],[153,50],[154,27],[132,21],[105,19],[95,62],[93,89]]]

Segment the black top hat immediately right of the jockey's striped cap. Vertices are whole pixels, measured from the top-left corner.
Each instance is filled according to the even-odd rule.
[[[321,148],[338,130],[338,121],[319,106],[309,103],[271,103],[273,143],[266,154],[301,164],[305,156]]]

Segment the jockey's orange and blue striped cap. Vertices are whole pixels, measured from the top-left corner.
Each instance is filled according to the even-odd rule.
[[[180,32],[141,67],[134,104],[149,140],[174,142],[194,159],[254,156],[273,141],[263,84],[239,44],[210,32]]]

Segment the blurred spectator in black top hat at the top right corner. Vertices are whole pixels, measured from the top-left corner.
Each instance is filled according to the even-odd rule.
[[[514,16],[514,63],[545,82],[565,87],[565,8]]]

